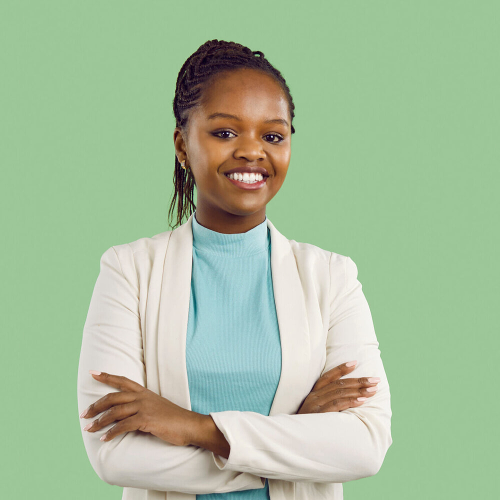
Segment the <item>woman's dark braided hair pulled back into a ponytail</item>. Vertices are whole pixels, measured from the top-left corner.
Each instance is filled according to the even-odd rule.
[[[238,68],[258,69],[273,76],[288,99],[290,117],[293,120],[295,106],[290,89],[281,73],[271,65],[262,52],[252,51],[233,41],[209,40],[192,53],[180,68],[173,98],[176,126],[187,126],[188,111],[198,104],[205,84],[214,74]],[[294,132],[295,129],[291,125],[291,133]],[[168,220],[172,228],[182,224],[182,219],[189,217],[196,208],[193,200],[194,177],[190,168],[184,170],[180,166],[177,156],[175,156],[173,184],[175,192],[168,209]],[[172,225],[175,206],[177,217]]]

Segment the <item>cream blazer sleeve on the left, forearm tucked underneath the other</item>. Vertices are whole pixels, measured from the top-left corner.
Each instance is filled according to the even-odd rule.
[[[131,253],[131,250],[130,250]],[[88,370],[101,370],[146,382],[136,271],[120,266],[109,248],[101,257],[100,272],[83,327],[78,365],[78,409],[117,389],[97,382]],[[126,277],[125,277],[126,275]],[[83,428],[90,420],[80,419]],[[92,467],[104,481],[118,486],[184,493],[213,493],[263,487],[260,477],[237,470],[220,470],[212,453],[197,446],[175,446],[138,431],[108,442],[98,432],[82,430]]]

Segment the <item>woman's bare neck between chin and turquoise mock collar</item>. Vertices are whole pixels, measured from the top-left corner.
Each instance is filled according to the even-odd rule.
[[[235,215],[225,211],[204,210],[196,205],[196,221],[207,229],[224,234],[246,232],[261,224],[265,219],[265,207],[247,215]]]

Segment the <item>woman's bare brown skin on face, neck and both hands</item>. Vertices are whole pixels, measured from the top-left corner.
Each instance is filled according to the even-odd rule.
[[[213,113],[238,119],[209,118]],[[283,184],[288,170],[290,122],[286,96],[271,76],[237,69],[210,80],[199,104],[189,113],[187,128],[175,128],[173,134],[177,158],[186,161],[195,179],[196,220],[201,225],[232,234],[246,232],[264,221],[266,204]],[[261,166],[269,177],[259,189],[241,189],[223,174],[238,166]],[[355,364],[343,363],[324,373],[297,413],[341,411],[360,406],[373,396],[378,378],[340,378]],[[98,371],[90,374],[118,392],[106,394],[81,412],[80,418],[99,415],[84,430],[96,432],[115,422],[101,440],[140,430],[171,444],[192,444],[229,456],[229,443],[210,415],[177,406],[126,377]]]

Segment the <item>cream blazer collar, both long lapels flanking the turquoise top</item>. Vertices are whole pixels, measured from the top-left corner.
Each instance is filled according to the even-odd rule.
[[[191,408],[185,345],[192,269],[193,215],[171,232],[165,261],[158,316],[160,394]],[[302,402],[309,369],[307,310],[290,242],[267,219],[271,236],[271,276],[281,342],[281,376],[270,414],[294,413]]]

